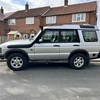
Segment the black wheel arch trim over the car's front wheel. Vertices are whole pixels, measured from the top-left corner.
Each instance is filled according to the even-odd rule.
[[[26,57],[27,60],[29,60],[28,54],[26,51],[21,49],[10,49],[5,53],[5,58],[8,58],[8,56],[12,53],[20,53]]]

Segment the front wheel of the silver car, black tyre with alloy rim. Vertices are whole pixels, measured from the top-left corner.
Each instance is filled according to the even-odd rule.
[[[19,71],[26,67],[28,61],[24,55],[20,53],[13,53],[7,58],[7,65],[13,71]]]

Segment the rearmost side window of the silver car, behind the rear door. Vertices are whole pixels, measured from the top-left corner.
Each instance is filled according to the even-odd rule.
[[[82,34],[83,34],[83,38],[85,42],[97,42],[98,41],[96,31],[83,30]]]

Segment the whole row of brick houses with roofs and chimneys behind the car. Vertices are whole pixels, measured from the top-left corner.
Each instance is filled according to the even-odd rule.
[[[97,2],[68,5],[68,0],[64,0],[61,7],[40,7],[29,9],[28,3],[25,10],[20,10],[12,14],[3,15],[1,9],[0,35],[7,35],[9,31],[18,31],[24,38],[30,34],[36,34],[39,26],[63,25],[63,24],[96,24]],[[2,23],[2,24],[1,24]]]

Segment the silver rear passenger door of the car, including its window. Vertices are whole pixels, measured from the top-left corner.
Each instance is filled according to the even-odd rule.
[[[67,59],[70,53],[80,49],[80,40],[77,30],[61,30],[60,31],[60,59]]]

